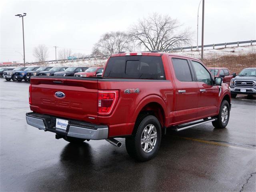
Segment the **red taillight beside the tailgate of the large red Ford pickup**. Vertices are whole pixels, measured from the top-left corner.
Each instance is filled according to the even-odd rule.
[[[108,115],[118,101],[118,91],[98,91],[98,114]]]

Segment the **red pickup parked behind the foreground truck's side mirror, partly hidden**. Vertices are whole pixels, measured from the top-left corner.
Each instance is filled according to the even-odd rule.
[[[234,74],[230,74],[228,68],[223,67],[209,67],[208,68],[214,77],[222,77],[223,83],[230,85],[230,80],[234,77]]]

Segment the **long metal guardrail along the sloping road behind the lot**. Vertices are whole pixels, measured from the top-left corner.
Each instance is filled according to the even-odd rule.
[[[209,45],[204,45],[204,48],[206,47],[212,47],[213,49],[216,46],[224,46],[225,48],[227,47],[227,45],[237,45],[239,46],[240,44],[248,44],[250,43],[250,45],[252,45],[252,43],[255,43],[256,40],[249,40],[249,41],[237,41],[237,42],[229,42],[229,43],[218,43],[218,44],[209,44]],[[170,49],[164,49],[164,50],[154,50],[154,51],[162,51],[162,52],[166,52],[166,51],[177,51],[177,50],[185,50],[185,49],[190,49],[191,51],[197,48],[196,46],[189,46],[189,47],[179,47],[179,48],[170,48]],[[202,46],[198,46],[198,48],[202,48]],[[150,51],[145,51],[145,52],[150,52]],[[76,59],[59,59],[59,60],[49,60],[49,61],[45,61],[44,64],[49,64],[49,63],[58,63],[58,62],[74,62],[74,61],[85,61],[85,60],[91,60],[91,59],[106,59],[108,58],[109,55],[104,55],[104,56],[86,56],[86,57],[80,57],[80,58],[76,58]],[[42,64],[41,62],[30,62],[30,63],[26,63],[26,65],[34,65],[34,64]]]

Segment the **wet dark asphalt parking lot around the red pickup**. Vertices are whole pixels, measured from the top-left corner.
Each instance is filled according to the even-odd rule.
[[[0,191],[255,191],[255,97],[232,100],[226,129],[167,131],[141,163],[123,138],[74,145],[27,125],[28,85],[0,79]]]

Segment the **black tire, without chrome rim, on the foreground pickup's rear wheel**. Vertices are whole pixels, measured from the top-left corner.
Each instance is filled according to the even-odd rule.
[[[153,125],[154,126],[153,129],[156,130],[156,141],[155,141],[153,148],[150,147],[151,151],[145,152],[142,149],[141,139],[142,139],[142,135],[145,134],[145,132],[143,132],[144,129],[148,128],[148,126],[150,126],[150,124]],[[132,136],[126,138],[126,140],[125,140],[126,150],[127,150],[128,154],[130,156],[132,156],[133,158],[135,158],[136,160],[148,161],[148,160],[154,158],[154,156],[156,156],[158,149],[160,147],[161,137],[162,137],[162,129],[161,129],[161,124],[158,121],[158,119],[152,115],[144,115],[137,120],[137,122],[134,126],[134,133],[132,134]],[[145,135],[144,147],[146,145],[146,142],[148,142],[148,146],[149,146],[149,140],[146,141],[147,139],[148,138]],[[152,142],[152,140],[153,140],[153,142]],[[154,138],[150,139],[150,142],[154,143]]]

